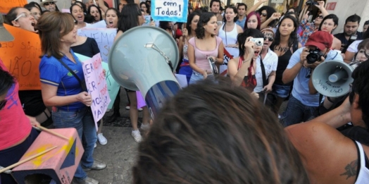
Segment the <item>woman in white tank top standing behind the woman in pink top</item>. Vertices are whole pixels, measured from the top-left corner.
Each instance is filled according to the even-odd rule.
[[[244,30],[236,24],[237,18],[237,8],[234,6],[227,7],[223,17],[224,23],[217,30],[218,37],[223,40],[226,55],[223,65],[220,66],[220,73],[227,69],[227,63],[230,59],[239,55],[237,35],[244,32]]]

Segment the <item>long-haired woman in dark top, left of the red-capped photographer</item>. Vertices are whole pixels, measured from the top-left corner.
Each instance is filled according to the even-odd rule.
[[[286,70],[289,59],[294,51],[301,48],[299,39],[297,38],[297,20],[293,16],[284,16],[278,24],[275,39],[270,49],[272,49],[278,56],[278,65],[275,75],[275,82],[273,85],[273,93],[277,95],[277,102],[273,106],[273,111],[278,114],[280,106],[285,98],[288,97],[292,82],[284,84],[282,82],[282,75]]]

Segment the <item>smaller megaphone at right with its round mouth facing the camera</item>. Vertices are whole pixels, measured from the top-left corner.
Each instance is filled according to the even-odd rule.
[[[313,71],[312,82],[315,90],[326,97],[341,97],[349,93],[354,82],[351,73],[358,66],[358,61],[350,64],[332,60],[320,63]]]

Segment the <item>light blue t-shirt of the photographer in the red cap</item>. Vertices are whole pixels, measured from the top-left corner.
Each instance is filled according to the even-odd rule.
[[[294,54],[292,54],[291,59],[289,59],[287,69],[294,67],[296,63],[300,62],[300,54],[304,48],[305,47],[297,49]],[[328,52],[325,61],[328,60],[344,61],[341,54],[334,50]],[[296,78],[294,78],[292,95],[306,106],[319,106],[319,93],[310,94],[308,91],[308,80],[310,79],[310,76],[311,68],[302,67],[300,69],[299,73],[296,75]]]

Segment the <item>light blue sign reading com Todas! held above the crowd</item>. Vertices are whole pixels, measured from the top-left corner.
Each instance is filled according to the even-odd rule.
[[[154,20],[187,22],[188,0],[153,0],[151,16]]]

